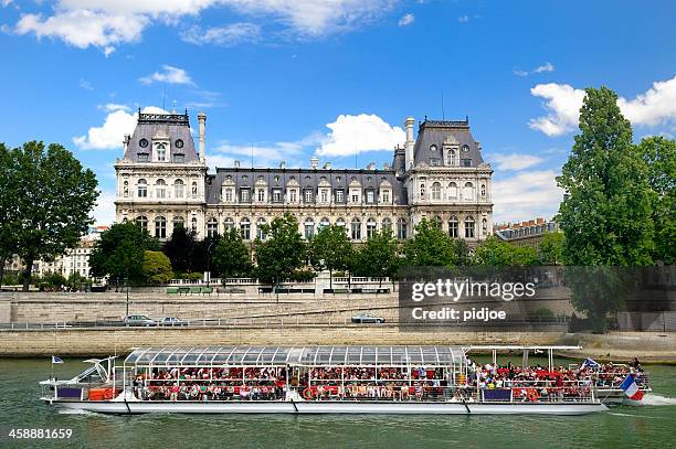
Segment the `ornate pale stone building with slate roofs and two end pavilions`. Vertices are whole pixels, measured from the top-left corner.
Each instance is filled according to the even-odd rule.
[[[493,171],[482,158],[468,120],[405,121],[406,140],[382,169],[218,168],[208,173],[204,159],[207,116],[198,115],[198,148],[186,114],[138,114],[124,157],[115,163],[116,221],[136,220],[165,239],[173,227],[198,236],[236,228],[245,240],[265,238],[263,225],[292,213],[299,232],[311,237],[326,225],[345,226],[355,242],[390,228],[401,238],[413,235],[423,218],[437,221],[469,245],[493,228]]]

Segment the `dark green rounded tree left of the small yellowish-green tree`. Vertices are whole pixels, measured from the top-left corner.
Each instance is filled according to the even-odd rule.
[[[101,234],[89,255],[91,275],[109,276],[116,285],[120,279],[144,280],[146,250],[158,250],[159,243],[136,222],[115,223]]]

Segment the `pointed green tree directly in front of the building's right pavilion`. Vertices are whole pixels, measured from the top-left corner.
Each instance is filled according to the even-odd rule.
[[[423,218],[415,226],[413,238],[404,243],[403,252],[409,266],[455,266],[460,245],[445,234],[434,221]]]

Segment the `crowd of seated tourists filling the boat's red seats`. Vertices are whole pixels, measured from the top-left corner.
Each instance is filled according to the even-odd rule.
[[[637,360],[629,365],[540,365],[522,368],[511,362],[478,364],[467,359],[467,375],[441,367],[315,366],[293,372],[270,367],[172,367],[138,373],[137,397],[149,400],[281,400],[287,389],[306,400],[473,400],[482,389],[511,391],[514,400],[561,400],[589,397],[593,386],[616,387],[633,374],[641,386]]]

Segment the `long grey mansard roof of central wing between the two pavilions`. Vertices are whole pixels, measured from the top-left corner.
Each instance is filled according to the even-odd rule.
[[[317,191],[319,183],[326,181],[331,189],[344,189],[346,195],[350,182],[356,180],[362,190],[379,190],[382,182],[392,190],[394,204],[406,204],[408,196],[403,183],[397,179],[393,170],[366,170],[366,169],[250,169],[250,168],[218,168],[215,174],[207,179],[207,203],[220,203],[221,185],[234,182],[237,190],[242,188],[253,189],[256,181],[262,177],[267,185],[267,191],[274,188],[285,189],[295,180],[300,190],[311,189]],[[228,182],[226,182],[228,181]]]

